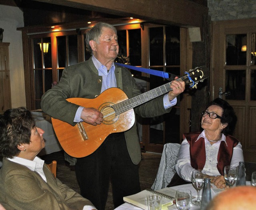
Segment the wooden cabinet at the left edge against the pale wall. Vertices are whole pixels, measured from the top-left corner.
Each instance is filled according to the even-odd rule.
[[[6,109],[10,109],[11,88],[10,88],[10,68],[9,68],[9,45],[10,43],[0,43],[0,114]]]

